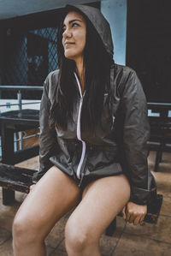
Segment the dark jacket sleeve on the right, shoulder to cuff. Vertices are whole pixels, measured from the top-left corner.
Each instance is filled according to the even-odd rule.
[[[128,75],[123,91],[122,107],[124,112],[123,149],[131,184],[130,200],[139,205],[146,205],[150,198],[148,179],[151,175],[147,164],[150,125],[144,91],[133,70]]]

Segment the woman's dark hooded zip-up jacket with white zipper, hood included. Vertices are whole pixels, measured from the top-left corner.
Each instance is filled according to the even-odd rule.
[[[101,12],[85,5],[68,5],[67,8],[79,10],[91,21],[112,59],[111,31]],[[156,194],[156,183],[147,165],[146,143],[150,126],[144,92],[135,71],[111,65],[112,114],[106,108],[106,92],[103,129],[99,128],[96,135],[80,130],[81,104],[84,102],[81,94],[73,113],[74,122],[68,122],[67,130],[50,128],[49,116],[57,80],[58,70],[51,72],[44,81],[40,107],[40,169],[33,182],[37,182],[52,165],[73,177],[80,187],[97,178],[124,173],[131,185],[130,200],[147,204],[151,195]],[[74,82],[79,83],[76,75]]]

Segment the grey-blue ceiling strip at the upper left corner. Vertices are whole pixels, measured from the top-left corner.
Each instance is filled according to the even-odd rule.
[[[0,0],[0,20],[62,8],[67,3],[92,2],[100,0]]]

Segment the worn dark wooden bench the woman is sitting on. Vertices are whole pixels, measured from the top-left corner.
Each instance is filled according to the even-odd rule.
[[[36,170],[0,164],[0,186],[7,190],[29,193],[32,185],[32,175]],[[9,190],[9,191],[10,191]],[[3,205],[10,204],[10,197],[3,198]],[[148,213],[144,218],[146,223],[156,223],[162,206],[162,194],[157,194],[156,200],[148,205]],[[119,214],[121,216],[121,214]],[[116,217],[106,229],[106,235],[112,236],[116,229]]]

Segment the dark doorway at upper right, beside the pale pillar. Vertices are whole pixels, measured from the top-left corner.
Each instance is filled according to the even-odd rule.
[[[139,74],[148,102],[171,102],[170,0],[127,1],[127,66]]]

